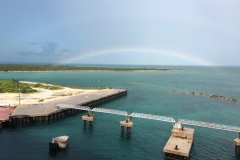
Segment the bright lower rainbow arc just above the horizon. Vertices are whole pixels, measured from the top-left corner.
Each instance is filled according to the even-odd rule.
[[[146,48],[113,48],[113,49],[102,49],[90,52],[82,52],[79,54],[75,54],[72,57],[68,57],[58,61],[58,64],[70,64],[70,63],[78,63],[84,58],[90,58],[94,56],[102,56],[102,55],[114,55],[114,54],[146,54],[149,56],[171,56],[171,58],[178,58],[181,60],[185,60],[195,65],[201,66],[216,66],[213,62],[209,62],[205,59],[201,59],[200,57],[196,57],[191,54],[187,54],[184,52],[174,52],[171,50],[157,50],[157,49],[146,49]]]

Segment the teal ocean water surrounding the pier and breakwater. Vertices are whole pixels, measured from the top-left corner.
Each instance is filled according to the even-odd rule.
[[[97,86],[100,80],[100,86],[128,89],[127,96],[98,106],[101,108],[162,115],[175,120],[181,118],[240,126],[240,103],[173,93],[196,91],[240,99],[240,68],[154,68],[182,70],[2,72],[0,80],[58,82],[69,86]],[[124,116],[95,113],[93,128],[84,128],[81,120],[84,114],[82,112],[54,122],[0,130],[0,159],[164,159],[163,148],[171,134],[171,123],[133,118],[132,134],[122,135],[119,121],[124,120]],[[191,160],[240,159],[235,155],[233,144],[238,133],[183,126],[195,129]],[[48,143],[53,137],[60,135],[70,136],[68,149],[57,154],[49,153]]]

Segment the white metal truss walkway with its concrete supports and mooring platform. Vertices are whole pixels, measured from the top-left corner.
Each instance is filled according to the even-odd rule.
[[[178,122],[176,122],[172,117],[165,117],[165,116],[145,114],[145,113],[132,113],[129,115],[126,111],[106,109],[106,108],[90,109],[89,107],[86,107],[86,106],[67,105],[67,104],[57,104],[56,106],[59,109],[72,108],[72,109],[87,110],[89,112],[88,115],[82,116],[85,126],[86,126],[86,121],[89,121],[89,126],[92,126],[93,115],[91,114],[90,111],[126,116],[126,120],[120,121],[120,126],[121,126],[121,132],[124,133],[125,131],[124,128],[126,127],[128,134],[131,133],[131,128],[133,127],[132,117],[174,123],[174,128],[172,130],[171,137],[169,138],[166,146],[163,149],[163,151],[165,152],[165,157],[170,157],[170,158],[187,159],[187,157],[189,157],[189,153],[190,153],[192,141],[193,141],[194,129],[183,128],[181,127],[181,124],[239,132],[240,134],[240,127],[237,127],[237,126],[186,120],[186,119],[179,119]],[[239,138],[234,140],[236,154],[240,154],[239,141],[240,141],[240,136]]]

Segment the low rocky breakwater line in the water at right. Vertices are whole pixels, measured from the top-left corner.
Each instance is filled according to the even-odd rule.
[[[225,97],[225,96],[220,96],[220,95],[216,95],[216,94],[208,94],[208,93],[201,93],[201,92],[184,92],[184,91],[173,91],[173,93],[191,94],[191,95],[197,95],[197,96],[206,96],[206,97],[210,97],[210,98],[223,99],[223,100],[226,100],[226,101],[229,101],[229,102],[240,103],[240,100],[238,100],[238,99],[229,98],[229,97]]]

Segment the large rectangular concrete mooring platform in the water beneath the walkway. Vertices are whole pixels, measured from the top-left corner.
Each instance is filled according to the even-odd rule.
[[[187,160],[193,143],[193,128],[174,124],[172,134],[163,148],[165,158]]]

